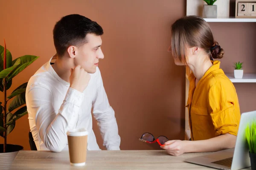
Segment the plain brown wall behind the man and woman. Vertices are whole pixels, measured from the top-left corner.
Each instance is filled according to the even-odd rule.
[[[167,52],[170,26],[186,14],[186,0],[23,0],[3,1],[0,39],[5,38],[13,58],[25,54],[40,58],[13,80],[12,92],[29,80],[55,53],[52,28],[67,14],[78,13],[96,20],[104,29],[105,59],[99,68],[110,104],[116,112],[122,150],[159,149],[138,141],[144,132],[169,139],[183,139],[185,68],[174,64]],[[212,31],[226,51],[224,71],[244,59],[244,71],[256,72],[253,55],[255,23],[211,23]],[[3,40],[0,40],[3,45]],[[256,85],[236,85],[241,111],[256,110]],[[253,92],[252,92],[253,91]],[[2,95],[3,96],[3,95]],[[3,98],[0,96],[1,98]],[[0,100],[1,101],[1,100]],[[93,122],[99,146],[102,139]],[[29,150],[27,116],[16,122],[8,143]],[[3,140],[0,139],[0,143]]]

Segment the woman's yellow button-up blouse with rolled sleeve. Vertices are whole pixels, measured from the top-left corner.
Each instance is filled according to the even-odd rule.
[[[237,136],[240,108],[236,89],[214,61],[212,67],[199,80],[189,76],[189,125],[192,140],[204,140],[230,133]]]

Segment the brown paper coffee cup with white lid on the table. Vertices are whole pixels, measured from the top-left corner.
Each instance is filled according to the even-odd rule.
[[[88,132],[84,128],[69,130],[67,132],[70,164],[73,166],[84,166],[87,156]]]

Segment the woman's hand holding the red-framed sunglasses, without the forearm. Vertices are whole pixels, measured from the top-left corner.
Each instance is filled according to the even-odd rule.
[[[179,156],[182,155],[183,153],[186,153],[186,147],[188,142],[191,141],[181,141],[181,140],[172,140],[172,141],[167,141],[165,143],[166,146],[161,146],[164,150],[167,151],[172,156]]]

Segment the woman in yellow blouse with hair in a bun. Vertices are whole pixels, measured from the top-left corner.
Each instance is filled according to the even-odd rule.
[[[224,50],[213,39],[208,23],[198,16],[180,18],[172,25],[172,52],[176,65],[187,65],[191,141],[172,140],[162,146],[178,156],[235,147],[240,108],[233,83],[220,68]]]

